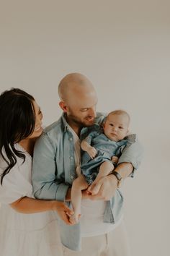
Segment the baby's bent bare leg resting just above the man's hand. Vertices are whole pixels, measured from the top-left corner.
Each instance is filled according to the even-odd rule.
[[[104,176],[107,176],[113,170],[114,166],[111,161],[105,161],[100,165],[99,173],[97,174],[96,179],[94,179],[94,182],[87,189],[89,192],[91,192],[91,195],[97,195],[97,193],[99,192],[99,189],[95,189],[95,185],[97,184],[97,182],[99,182],[99,179],[101,179]]]

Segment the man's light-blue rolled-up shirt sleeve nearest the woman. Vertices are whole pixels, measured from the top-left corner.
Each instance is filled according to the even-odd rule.
[[[55,162],[56,148],[53,147],[48,135],[43,134],[35,144],[32,186],[34,196],[44,200],[65,200],[68,184],[58,174]],[[56,176],[58,179],[56,179]]]

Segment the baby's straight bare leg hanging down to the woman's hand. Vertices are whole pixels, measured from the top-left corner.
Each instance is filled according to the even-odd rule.
[[[88,186],[89,184],[82,174],[73,181],[71,187],[71,203],[73,205],[74,213],[70,217],[70,222],[73,224],[76,224],[79,221],[79,216],[81,215],[81,190],[87,189]]]

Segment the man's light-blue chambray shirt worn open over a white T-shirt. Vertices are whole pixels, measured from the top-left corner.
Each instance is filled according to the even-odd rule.
[[[95,122],[101,124],[104,117],[104,114],[97,113]],[[81,129],[81,140],[88,133],[89,129],[87,127]],[[136,141],[123,150],[118,164],[124,162],[132,163],[134,172],[140,164],[142,153],[143,148]],[[76,179],[73,135],[63,114],[58,121],[55,121],[44,130],[41,137],[35,143],[32,167],[34,195],[42,200],[64,201],[73,179]],[[107,207],[104,211],[104,222],[115,223],[119,220],[122,213],[122,202],[123,197],[120,190],[117,189],[115,197],[107,201]],[[60,218],[58,218],[58,223],[63,245],[69,249],[80,250],[80,224],[68,226]]]

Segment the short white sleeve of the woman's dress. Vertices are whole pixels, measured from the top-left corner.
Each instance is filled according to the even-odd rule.
[[[23,164],[23,167],[18,167],[16,164],[9,171],[9,174],[4,176],[3,182],[0,185],[1,203],[10,204],[21,197],[32,197],[32,184],[22,175],[19,168],[27,168],[27,166]],[[0,171],[2,172],[2,169]]]

